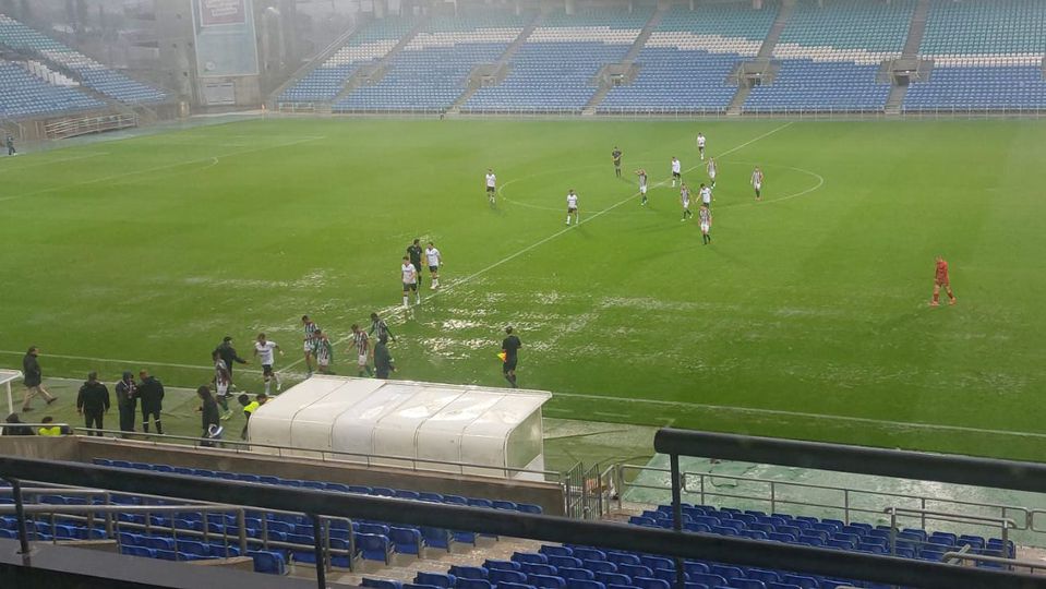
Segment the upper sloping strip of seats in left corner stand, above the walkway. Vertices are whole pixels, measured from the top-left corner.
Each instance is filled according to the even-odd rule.
[[[115,72],[3,14],[0,14],[0,45],[57,63],[75,74],[84,86],[121,103],[156,103],[167,98],[165,93]]]

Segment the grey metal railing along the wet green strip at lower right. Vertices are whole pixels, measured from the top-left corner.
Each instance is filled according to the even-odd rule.
[[[663,472],[671,473],[670,469],[666,468],[657,468],[657,467],[647,467],[639,465],[627,465],[627,464],[616,464],[608,469],[608,472],[614,479],[614,484],[617,485],[617,489],[649,489],[656,491],[670,491],[671,485],[652,485],[644,484],[637,482],[627,482],[632,474],[638,474],[644,471],[650,472]],[[707,504],[709,500],[742,500],[742,501],[753,501],[765,503],[770,513],[777,512],[780,506],[797,506],[797,507],[808,507],[816,509],[829,509],[837,510],[841,514],[840,519],[845,524],[853,521],[853,516],[855,514],[865,514],[870,516],[881,516],[883,513],[888,513],[885,509],[898,509],[899,512],[904,512],[907,514],[901,514],[902,517],[909,519],[917,519],[921,528],[926,527],[928,520],[936,521],[953,521],[953,519],[943,519],[937,517],[934,514],[943,514],[952,518],[963,517],[971,521],[964,521],[965,524],[974,524],[973,520],[977,520],[982,517],[988,517],[993,521],[998,521],[1000,519],[1006,519],[1010,522],[1009,529],[1013,530],[1029,530],[1029,531],[1046,531],[1046,530],[1035,530],[1032,528],[1032,515],[1035,510],[1029,509],[1026,507],[1021,507],[1017,505],[1003,505],[996,503],[981,503],[981,502],[971,502],[971,501],[961,501],[953,498],[945,497],[934,497],[927,495],[907,495],[903,493],[890,493],[887,491],[866,491],[862,489],[851,489],[845,486],[833,486],[833,485],[823,485],[823,484],[811,484],[811,483],[801,483],[801,482],[791,482],[791,481],[779,481],[773,479],[761,479],[758,477],[734,477],[730,474],[712,474],[709,472],[690,472],[684,471],[681,473],[682,483],[681,489],[684,493],[689,495],[697,495],[699,502],[704,505]],[[697,479],[697,482],[694,483],[693,480]],[[766,485],[767,492],[762,495],[755,494],[741,494],[741,493],[731,493],[725,491],[720,491],[719,488],[714,484],[714,480],[728,480],[728,481],[740,481],[744,483],[754,483],[759,485]],[[816,491],[828,491],[831,493],[838,493],[840,498],[839,503],[820,503],[817,501],[810,500],[798,500],[798,498],[787,498],[787,496],[782,492],[782,488],[792,488],[798,490],[816,490]],[[918,507],[907,508],[904,506],[898,506],[892,504],[887,504],[886,507],[862,507],[855,505],[854,498],[857,496],[870,496],[870,497],[881,497],[886,501],[902,500],[909,502],[917,503]],[[617,496],[617,507],[621,508],[622,500],[621,496]],[[951,505],[957,507],[969,507],[982,509],[983,512],[998,512],[998,516],[979,516],[966,513],[951,512],[933,512],[930,507],[938,505]],[[1046,510],[1039,512],[1046,514]],[[1013,517],[1017,516],[1017,517]]]

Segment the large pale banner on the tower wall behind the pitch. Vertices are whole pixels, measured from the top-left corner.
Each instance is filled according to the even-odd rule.
[[[257,75],[251,1],[193,0],[192,5],[197,75]]]

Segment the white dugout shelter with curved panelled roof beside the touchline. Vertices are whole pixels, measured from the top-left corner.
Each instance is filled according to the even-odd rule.
[[[543,470],[541,406],[550,398],[538,390],[320,375],[259,408],[250,434],[257,444],[309,448],[284,455],[340,452],[349,453],[338,456],[347,461],[529,478],[505,468]]]

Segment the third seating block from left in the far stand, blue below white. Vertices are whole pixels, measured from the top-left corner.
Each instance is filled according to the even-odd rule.
[[[478,89],[461,110],[580,112],[598,89],[596,74],[622,61],[652,12],[590,9],[546,15],[513,56],[505,80]]]

